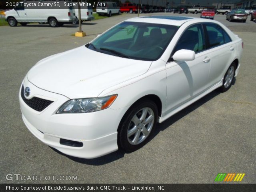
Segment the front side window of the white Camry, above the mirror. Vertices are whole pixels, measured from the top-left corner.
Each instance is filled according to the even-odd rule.
[[[193,25],[186,29],[180,37],[174,52],[181,49],[188,49],[194,52],[200,52],[206,48],[203,28],[201,24]]]

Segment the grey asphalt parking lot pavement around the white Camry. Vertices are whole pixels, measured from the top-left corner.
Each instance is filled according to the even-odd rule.
[[[88,36],[84,38],[72,36],[78,30],[72,25],[0,27],[1,183],[213,183],[218,173],[228,172],[245,173],[242,183],[255,183],[256,23],[249,19],[230,23],[223,15],[215,16],[244,41],[234,86],[222,94],[214,91],[158,124],[150,142],[140,150],[130,154],[117,151],[92,160],[74,158],[55,152],[28,131],[18,103],[18,90],[28,70],[38,60],[82,46],[134,16],[86,22],[82,29]],[[68,175],[78,180],[9,181],[6,174]]]

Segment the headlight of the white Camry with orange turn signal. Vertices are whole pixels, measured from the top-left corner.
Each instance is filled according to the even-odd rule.
[[[64,103],[57,114],[60,113],[89,113],[108,108],[116,99],[116,95],[96,98],[72,99]]]

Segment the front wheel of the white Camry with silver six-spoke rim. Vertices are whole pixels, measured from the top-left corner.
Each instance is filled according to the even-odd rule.
[[[144,118],[143,112],[146,114]],[[140,118],[142,119],[140,120]],[[118,128],[120,148],[125,152],[132,152],[144,146],[156,127],[157,118],[157,106],[151,100],[141,100],[133,104],[124,115]],[[145,124],[146,120],[148,123]]]

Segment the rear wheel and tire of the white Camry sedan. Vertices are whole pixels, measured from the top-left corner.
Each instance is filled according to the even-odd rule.
[[[220,87],[221,92],[226,92],[227,90],[230,89],[230,87],[232,86],[232,82],[234,80],[235,72],[236,72],[236,64],[232,62],[232,64],[229,66],[224,76],[222,86]]]

